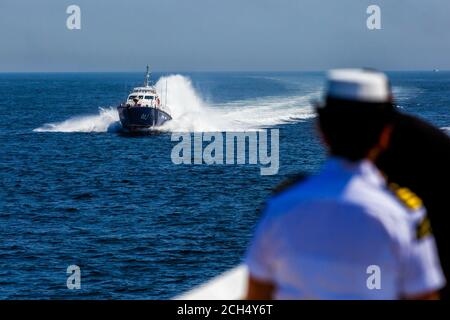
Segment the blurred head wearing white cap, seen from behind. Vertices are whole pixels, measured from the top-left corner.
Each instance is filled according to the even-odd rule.
[[[323,140],[334,156],[375,161],[389,145],[394,106],[383,73],[330,71],[325,101],[316,106],[316,111]]]

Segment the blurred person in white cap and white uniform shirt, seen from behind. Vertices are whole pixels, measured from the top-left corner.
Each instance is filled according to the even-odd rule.
[[[374,162],[396,111],[386,76],[329,73],[317,106],[329,158],[267,204],[248,249],[248,299],[437,298],[445,285],[426,211]]]

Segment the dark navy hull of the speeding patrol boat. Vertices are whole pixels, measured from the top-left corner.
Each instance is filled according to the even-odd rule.
[[[123,128],[130,131],[159,127],[172,120],[167,112],[158,108],[120,105],[117,111]]]

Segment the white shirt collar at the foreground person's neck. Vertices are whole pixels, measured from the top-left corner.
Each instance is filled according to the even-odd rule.
[[[324,164],[322,173],[326,176],[360,176],[368,183],[384,187],[386,180],[378,168],[367,159],[352,162],[340,157],[330,157]]]

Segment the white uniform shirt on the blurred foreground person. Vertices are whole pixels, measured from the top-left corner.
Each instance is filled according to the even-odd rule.
[[[429,293],[445,278],[434,238],[416,236],[424,217],[387,189],[371,162],[331,158],[318,176],[268,202],[246,264],[254,278],[275,284],[277,299]],[[368,286],[378,275],[381,288]]]

